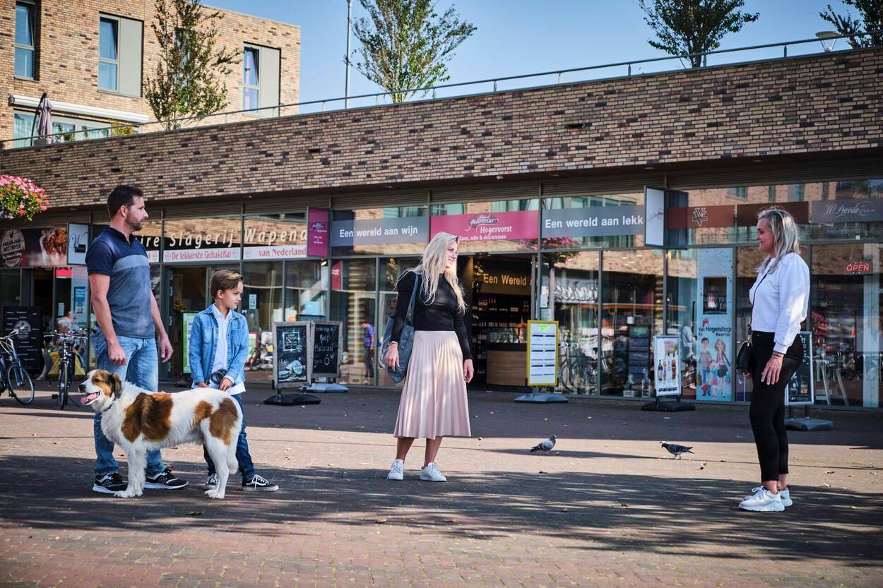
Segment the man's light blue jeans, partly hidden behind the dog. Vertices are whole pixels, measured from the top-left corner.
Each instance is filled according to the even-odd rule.
[[[159,359],[156,355],[155,339],[137,339],[135,337],[117,336],[120,347],[125,353],[126,362],[122,366],[110,361],[108,344],[104,335],[99,332],[94,337],[95,363],[98,369],[116,373],[122,381],[132,382],[139,388],[155,392],[159,389]],[[117,473],[119,465],[113,456],[113,441],[102,432],[102,413],[96,412],[94,418],[95,438],[95,476]],[[155,476],[165,470],[159,450],[147,452],[148,476]]]

